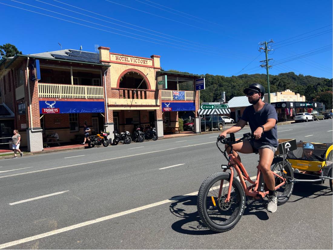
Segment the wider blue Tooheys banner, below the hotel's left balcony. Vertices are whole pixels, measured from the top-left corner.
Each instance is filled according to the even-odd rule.
[[[104,102],[39,101],[40,114],[104,113]]]

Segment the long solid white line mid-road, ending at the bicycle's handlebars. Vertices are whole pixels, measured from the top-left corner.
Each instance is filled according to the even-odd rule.
[[[43,171],[48,171],[48,170],[53,170],[53,169],[59,169],[59,168],[68,168],[68,167],[86,165],[86,164],[91,164],[91,163],[96,163],[96,162],[102,162],[102,161],[111,161],[111,160],[122,159],[122,158],[137,156],[137,155],[145,155],[145,154],[152,154],[152,153],[157,153],[157,152],[163,152],[163,151],[168,151],[168,150],[173,150],[173,149],[178,149],[178,148],[194,147],[194,146],[204,145],[204,144],[208,144],[208,143],[214,143],[214,142],[204,142],[204,143],[198,143],[198,144],[193,144],[193,145],[186,145],[186,146],[180,146],[180,147],[175,147],[175,148],[168,148],[168,149],[156,150],[156,151],[139,153],[139,154],[133,154],[133,155],[119,156],[119,157],[114,157],[114,158],[109,158],[109,159],[103,159],[103,160],[97,160],[97,161],[77,163],[77,164],[66,165],[66,166],[61,166],[61,167],[46,168],[46,169],[35,170],[35,171],[25,172],[25,173],[18,173],[18,174],[12,174],[12,175],[4,175],[4,176],[0,176],[0,178],[11,177],[11,176],[16,176],[16,175],[22,175],[22,174],[31,174],[31,173],[43,172]]]

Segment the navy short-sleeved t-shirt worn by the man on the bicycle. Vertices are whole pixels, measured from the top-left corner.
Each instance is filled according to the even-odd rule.
[[[253,105],[247,106],[243,112],[242,120],[249,123],[251,132],[253,133],[259,126],[263,126],[267,123],[268,119],[275,119],[275,126],[269,131],[263,132],[264,136],[260,139],[252,139],[254,142],[268,144],[273,147],[277,147],[277,114],[275,108],[269,103],[265,105],[258,112],[255,112]]]

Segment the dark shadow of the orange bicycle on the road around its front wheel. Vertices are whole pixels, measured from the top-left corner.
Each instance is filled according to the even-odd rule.
[[[180,218],[171,225],[171,228],[174,231],[190,235],[208,235],[217,233],[211,231],[202,224],[196,208],[196,195],[185,196],[183,198],[179,198],[179,196],[175,197],[178,199],[172,202],[169,207],[170,212],[174,216]],[[269,217],[265,207],[266,205],[262,203],[262,200],[247,200],[243,216],[255,215],[260,220],[268,220]]]

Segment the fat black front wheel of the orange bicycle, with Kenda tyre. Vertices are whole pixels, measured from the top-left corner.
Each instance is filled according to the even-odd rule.
[[[220,181],[223,180],[223,193],[221,194],[220,199],[217,199],[219,192]],[[210,230],[215,232],[225,232],[232,229],[240,218],[243,215],[245,209],[245,193],[240,182],[233,178],[232,181],[232,190],[230,195],[229,203],[222,203],[228,192],[228,184],[230,180],[230,173],[226,172],[216,172],[208,176],[200,186],[198,197],[197,197],[197,209],[198,214],[202,223],[208,227]],[[217,186],[217,183],[218,186]],[[226,185],[225,185],[226,184]],[[214,188],[215,191],[212,189]],[[209,194],[208,194],[209,193]],[[215,195],[214,195],[215,194]],[[214,195],[216,200],[214,200],[218,205],[213,204],[213,199],[211,198]],[[210,197],[209,197],[210,196]],[[222,210],[222,208],[223,210]],[[231,208],[232,207],[232,208]],[[216,216],[226,216],[224,214],[230,214],[228,219]],[[215,218],[215,220],[213,220]],[[220,222],[217,223],[216,221]],[[221,221],[225,220],[225,221]]]

